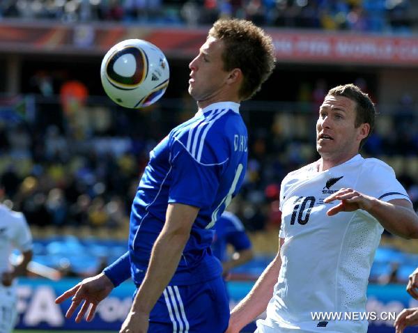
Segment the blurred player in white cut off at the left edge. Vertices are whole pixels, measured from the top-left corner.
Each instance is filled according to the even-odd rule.
[[[14,266],[10,254],[14,249],[22,253],[22,261]],[[32,258],[32,236],[21,212],[13,212],[0,203],[0,333],[12,332],[17,320],[15,277],[26,271]]]

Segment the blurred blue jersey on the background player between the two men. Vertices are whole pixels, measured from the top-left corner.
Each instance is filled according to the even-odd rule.
[[[229,244],[235,251],[251,249],[251,241],[240,219],[232,212],[224,212],[215,224],[215,239],[212,244],[212,252],[220,261],[226,261]]]

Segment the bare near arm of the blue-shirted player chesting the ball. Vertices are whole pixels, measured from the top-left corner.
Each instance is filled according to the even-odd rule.
[[[194,206],[169,204],[166,222],[155,241],[150,265],[121,327],[121,333],[147,332],[149,313],[176,272],[198,212],[199,208]]]

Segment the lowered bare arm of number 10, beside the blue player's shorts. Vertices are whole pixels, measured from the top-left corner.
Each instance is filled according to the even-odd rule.
[[[281,267],[280,249],[283,244],[284,238],[280,238],[279,251],[277,251],[273,261],[265,268],[248,295],[231,311],[229,327],[225,333],[240,332],[242,327],[251,323],[267,308],[273,295],[274,285],[279,277]]]

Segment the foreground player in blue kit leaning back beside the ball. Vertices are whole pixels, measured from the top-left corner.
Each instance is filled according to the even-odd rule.
[[[128,277],[137,285],[121,331],[224,332],[229,304],[210,245],[215,222],[240,189],[247,129],[240,116],[274,68],[272,39],[245,20],[219,20],[191,63],[196,115],[150,152],[132,203],[128,251],[101,274],[57,298],[67,317],[93,318],[98,303]]]

